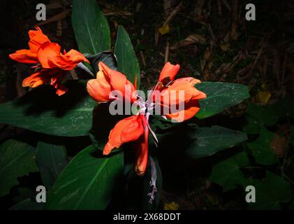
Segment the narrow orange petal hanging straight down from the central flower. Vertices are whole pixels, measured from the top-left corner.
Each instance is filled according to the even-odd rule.
[[[143,176],[146,172],[147,162],[148,162],[148,134],[149,129],[146,125],[146,120],[144,116],[142,116],[143,125],[145,128],[144,135],[142,135],[136,144],[136,155],[137,155],[137,162],[135,165],[135,172],[139,176]]]

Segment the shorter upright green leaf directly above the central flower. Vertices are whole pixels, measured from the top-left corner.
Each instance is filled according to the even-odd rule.
[[[117,30],[117,41],[115,43],[115,55],[117,56],[117,70],[124,73],[126,78],[133,84],[137,75],[137,87],[140,87],[140,66],[133,50],[133,45],[124,27],[119,26]]]

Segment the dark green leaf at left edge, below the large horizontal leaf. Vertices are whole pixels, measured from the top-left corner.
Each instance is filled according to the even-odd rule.
[[[17,177],[38,172],[33,146],[10,139],[0,146],[0,197],[18,184]]]

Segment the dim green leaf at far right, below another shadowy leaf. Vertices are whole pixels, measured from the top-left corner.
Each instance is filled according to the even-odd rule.
[[[277,162],[278,156],[272,148],[270,148],[273,139],[274,133],[268,131],[265,127],[261,127],[258,139],[247,144],[256,162],[259,164],[272,165]]]

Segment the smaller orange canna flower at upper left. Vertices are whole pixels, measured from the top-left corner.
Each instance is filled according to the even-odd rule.
[[[66,92],[61,84],[66,71],[72,70],[80,62],[89,61],[77,50],[64,50],[57,43],[52,43],[39,27],[29,31],[29,50],[17,50],[9,57],[17,62],[35,64],[36,72],[22,82],[23,87],[37,87],[50,83],[60,96]]]

